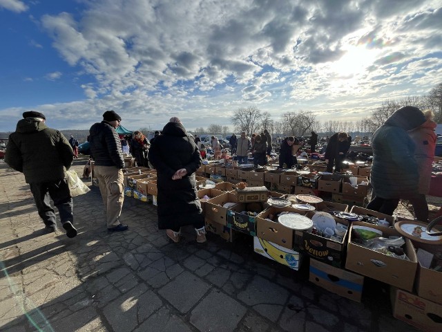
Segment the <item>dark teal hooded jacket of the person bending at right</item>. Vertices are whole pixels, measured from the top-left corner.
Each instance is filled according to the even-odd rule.
[[[425,116],[416,107],[401,107],[373,135],[371,181],[376,196],[400,199],[418,189],[415,144],[407,131],[419,127]]]

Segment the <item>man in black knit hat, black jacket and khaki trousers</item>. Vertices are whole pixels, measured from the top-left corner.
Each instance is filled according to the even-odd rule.
[[[128,225],[119,222],[124,202],[124,158],[117,127],[122,118],[115,111],[106,111],[103,121],[93,124],[90,133],[90,156],[95,160],[94,174],[102,194],[108,230],[122,232]]]

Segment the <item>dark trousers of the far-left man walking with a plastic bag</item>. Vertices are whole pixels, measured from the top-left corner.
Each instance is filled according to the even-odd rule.
[[[74,204],[66,179],[30,183],[29,185],[39,216],[43,219],[46,226],[55,227],[57,225],[57,217],[55,216],[55,210],[50,205],[50,199],[52,199],[55,207],[58,209],[61,223],[66,223],[66,221],[73,223]]]

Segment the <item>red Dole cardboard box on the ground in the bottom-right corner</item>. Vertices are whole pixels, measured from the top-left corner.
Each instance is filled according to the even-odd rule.
[[[442,331],[442,305],[401,289],[390,288],[393,316],[422,331]]]

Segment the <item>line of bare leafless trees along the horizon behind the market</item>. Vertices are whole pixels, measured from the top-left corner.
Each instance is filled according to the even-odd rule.
[[[324,135],[345,131],[371,136],[396,109],[403,106],[415,106],[421,110],[431,109],[435,115],[434,121],[442,123],[442,83],[432,89],[428,95],[412,96],[401,100],[386,100],[379,107],[376,107],[370,116],[358,121],[329,120],[320,122],[316,120],[316,115],[312,111],[304,110],[284,113],[277,121],[271,119],[269,112],[251,106],[237,109],[233,113],[231,123],[236,133],[246,131],[249,135],[267,129],[276,136],[309,136],[311,131]],[[218,124],[211,124],[207,129],[195,128],[194,132],[198,134],[221,134],[222,136],[230,133],[229,127]]]

